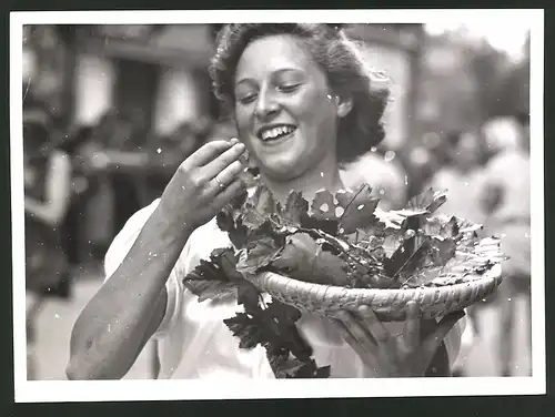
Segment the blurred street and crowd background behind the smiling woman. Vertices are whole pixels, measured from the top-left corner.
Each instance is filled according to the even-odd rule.
[[[37,183],[48,187],[52,177],[56,190],[65,190],[58,192],[61,214],[50,223],[57,252],[44,255],[43,266],[38,257],[36,271],[63,268],[67,278],[28,303],[30,379],[65,379],[71,328],[102,283],[105,250],[125,221],[162,193],[200,145],[235,135],[219,114],[206,71],[220,27],[24,27],[26,212],[37,210],[27,201],[40,200]],[[370,183],[392,208],[424,187],[447,189],[445,213],[483,223],[486,233],[513,233],[515,247],[529,252],[529,207],[506,210],[515,200],[529,204],[528,28],[344,30],[362,42],[369,64],[387,74],[392,90],[387,138],[345,167],[345,184]],[[44,112],[33,112],[39,108],[47,121]],[[32,126],[47,126],[46,140],[33,144],[41,133]],[[71,163],[44,164],[52,154]],[[56,175],[40,171],[44,166],[57,166]],[[63,260],[51,262],[61,252]],[[474,337],[456,375],[529,375],[529,255],[518,262],[511,281],[517,284],[504,284],[495,299],[471,312]],[[157,366],[149,345],[125,378],[152,378]]]

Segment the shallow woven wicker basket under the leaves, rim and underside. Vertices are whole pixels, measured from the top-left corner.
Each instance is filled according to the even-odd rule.
[[[461,311],[492,294],[502,282],[501,265],[468,282],[443,287],[410,289],[344,288],[292,279],[275,273],[249,278],[259,289],[302,312],[335,317],[342,309],[354,312],[369,305],[384,322],[403,321],[406,303],[420,304],[423,318],[435,318]]]

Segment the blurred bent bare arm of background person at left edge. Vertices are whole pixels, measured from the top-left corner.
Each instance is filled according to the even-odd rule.
[[[52,153],[46,179],[46,201],[26,196],[26,212],[40,221],[58,226],[68,211],[71,197],[71,161],[61,151]]]

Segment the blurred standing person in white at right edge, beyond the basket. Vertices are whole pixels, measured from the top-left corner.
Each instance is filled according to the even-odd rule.
[[[531,161],[529,114],[490,121],[484,135],[494,156],[485,167],[481,202],[486,213],[487,233],[501,237],[501,248],[509,256],[503,263],[506,276],[493,302],[501,314],[501,374],[511,376],[514,350],[515,301],[531,296]],[[529,322],[529,321],[528,321]],[[532,342],[527,324],[527,343]],[[531,366],[531,364],[528,364]],[[531,370],[531,369],[529,369]]]

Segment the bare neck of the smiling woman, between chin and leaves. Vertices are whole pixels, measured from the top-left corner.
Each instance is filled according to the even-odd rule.
[[[343,189],[343,182],[335,161],[333,161],[333,164],[329,162],[321,163],[316,169],[290,181],[276,181],[264,174],[261,174],[261,179],[270,189],[274,199],[281,202],[285,202],[292,191],[301,192],[305,200],[312,201],[320,190],[324,189],[335,193]]]

